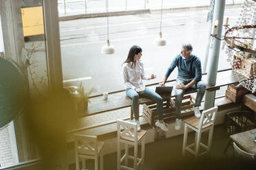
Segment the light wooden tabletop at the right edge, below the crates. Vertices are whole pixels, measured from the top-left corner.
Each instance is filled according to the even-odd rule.
[[[256,129],[248,130],[246,132],[241,132],[238,134],[233,134],[230,136],[231,140],[237,143],[239,147],[244,149],[250,154],[256,154],[256,143],[253,141],[253,134]]]

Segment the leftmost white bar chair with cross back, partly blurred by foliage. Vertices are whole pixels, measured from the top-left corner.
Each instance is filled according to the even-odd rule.
[[[75,134],[76,170],[79,167],[79,158],[82,158],[82,167],[85,170],[85,160],[94,159],[95,169],[98,170],[98,156],[100,156],[100,170],[103,170],[103,141],[97,141],[96,136]]]

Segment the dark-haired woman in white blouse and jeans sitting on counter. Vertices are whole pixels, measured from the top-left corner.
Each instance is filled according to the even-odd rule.
[[[132,110],[137,123],[138,130],[140,130],[139,123],[139,95],[148,97],[153,101],[156,101],[156,110],[158,112],[159,120],[156,122],[156,126],[160,127],[165,132],[168,131],[162,119],[162,97],[158,93],[153,92],[149,88],[145,87],[142,80],[151,80],[156,78],[156,75],[145,75],[144,67],[140,58],[142,56],[142,49],[137,45],[131,47],[127,59],[122,64],[122,74],[124,77],[124,83],[126,88],[126,94],[132,99]]]

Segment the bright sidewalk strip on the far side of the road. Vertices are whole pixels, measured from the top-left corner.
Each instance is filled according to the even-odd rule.
[[[161,2],[162,0],[109,0],[109,12],[120,15],[119,12],[131,14],[131,11],[141,13],[149,12],[149,10],[160,10]],[[210,0],[169,0],[163,1],[163,8],[175,10],[207,7],[210,2]],[[244,0],[226,0],[226,5],[243,2]],[[65,16],[80,16],[78,18],[81,18],[81,15],[87,15],[87,17],[105,16],[106,12],[106,0],[58,0],[58,16],[63,20],[70,20],[69,17],[65,19]]]

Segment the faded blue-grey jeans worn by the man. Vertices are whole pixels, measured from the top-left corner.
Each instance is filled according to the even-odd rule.
[[[176,85],[182,83],[184,85],[189,84],[193,79],[183,79],[181,77],[178,77],[176,79]],[[200,82],[194,84],[191,86],[193,90],[198,90],[198,93],[196,95],[195,99],[195,106],[201,106],[202,98],[204,97],[206,84],[201,80]],[[190,89],[190,88],[189,88]],[[186,90],[177,89],[175,86],[175,115],[176,118],[181,118],[181,106],[182,106],[182,97]]]

